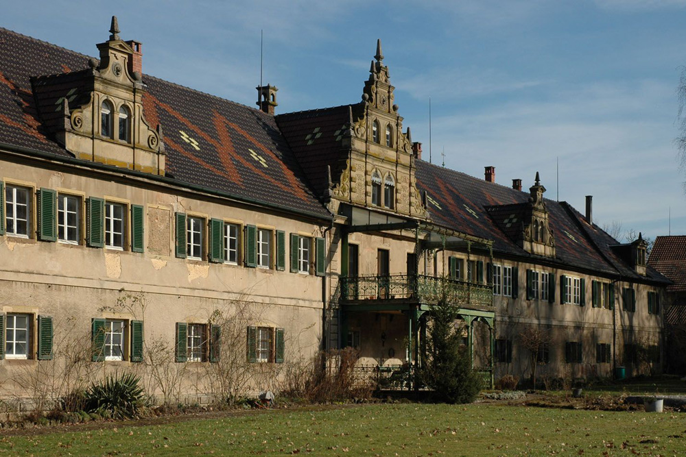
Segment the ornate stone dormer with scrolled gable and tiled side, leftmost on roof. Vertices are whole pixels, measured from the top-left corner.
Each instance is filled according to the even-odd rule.
[[[143,116],[141,44],[121,40],[113,16],[109,40],[97,48],[90,69],[32,80],[46,127],[77,158],[164,175],[161,126]],[[54,106],[61,121],[49,112]]]

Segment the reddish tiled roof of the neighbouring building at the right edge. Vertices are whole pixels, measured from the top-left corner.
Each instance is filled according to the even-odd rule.
[[[648,265],[674,282],[667,291],[686,291],[686,236],[657,236]]]

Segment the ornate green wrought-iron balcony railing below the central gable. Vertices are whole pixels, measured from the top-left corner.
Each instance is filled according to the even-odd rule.
[[[426,275],[342,276],[341,299],[354,303],[406,301],[435,305],[493,306],[493,287]],[[351,303],[352,304],[352,303]]]

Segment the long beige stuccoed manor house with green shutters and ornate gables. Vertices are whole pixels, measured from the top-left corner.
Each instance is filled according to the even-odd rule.
[[[0,397],[122,370],[163,398],[278,389],[350,345],[409,387],[438,303],[488,384],[530,375],[531,328],[539,377],[661,370],[644,243],[537,174],[422,160],[380,42],[362,101],[275,115],[274,86],[259,110],[176,86],[119,33],[96,60],[0,29]]]

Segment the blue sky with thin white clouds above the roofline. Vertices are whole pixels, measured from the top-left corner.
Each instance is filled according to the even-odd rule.
[[[249,4],[248,4],[249,3]],[[31,1],[0,25],[88,55],[108,37],[143,42],[143,72],[277,112],[356,103],[377,38],[395,101],[434,163],[496,182],[536,171],[546,197],[597,223],[686,234],[686,176],[673,140],[686,65],[686,0]],[[559,162],[559,186],[556,164]]]

